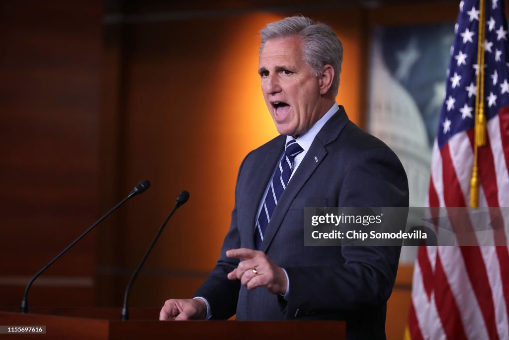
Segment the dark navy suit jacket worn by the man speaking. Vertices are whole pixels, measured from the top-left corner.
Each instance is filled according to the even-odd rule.
[[[242,162],[230,230],[195,296],[208,300],[212,319],[236,313],[237,320],[346,320],[348,339],[385,338],[386,301],[401,248],[304,246],[306,206],[408,206],[408,181],[398,157],[352,123],[341,106],[282,193],[262,243],[261,250],[288,273],[287,300],[265,287],[248,291],[227,278],[238,260],[225,252],[254,248],[256,213],[285,143],[278,136]]]

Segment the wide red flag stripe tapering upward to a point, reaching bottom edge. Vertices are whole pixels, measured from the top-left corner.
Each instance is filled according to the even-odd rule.
[[[436,259],[435,280],[435,301],[440,303],[440,306],[437,305],[437,310],[447,339],[467,339],[461,322],[460,310],[453,292],[450,290],[439,253],[437,253]]]

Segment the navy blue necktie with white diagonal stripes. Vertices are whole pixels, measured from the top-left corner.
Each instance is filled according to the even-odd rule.
[[[263,201],[262,210],[254,228],[254,242],[256,249],[262,247],[263,236],[269,225],[270,218],[276,207],[277,201],[288,185],[293,170],[295,156],[304,151],[295,139],[289,141],[285,148],[285,154],[276,168],[267,195]]]

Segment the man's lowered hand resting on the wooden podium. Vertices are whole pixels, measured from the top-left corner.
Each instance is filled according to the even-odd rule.
[[[203,320],[206,316],[207,305],[202,299],[171,299],[164,302],[159,320]]]

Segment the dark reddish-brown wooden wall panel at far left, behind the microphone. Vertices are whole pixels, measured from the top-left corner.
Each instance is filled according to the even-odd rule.
[[[0,306],[97,217],[102,6],[0,3]],[[93,305],[91,234],[41,276],[31,305]]]

